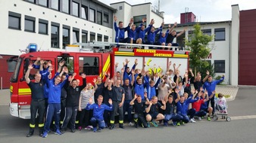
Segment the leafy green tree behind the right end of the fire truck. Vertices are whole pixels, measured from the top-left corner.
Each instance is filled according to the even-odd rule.
[[[192,35],[189,35],[189,39],[185,39],[186,50],[189,50],[189,65],[194,68],[195,75],[197,69],[206,68],[209,63],[205,61],[211,51],[209,48],[209,42],[212,41],[214,36],[205,35],[201,32],[201,26],[199,23],[193,26],[194,30]],[[202,71],[203,72],[203,71]]]

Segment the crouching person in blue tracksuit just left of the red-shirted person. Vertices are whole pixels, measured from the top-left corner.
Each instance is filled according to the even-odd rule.
[[[180,96],[180,101],[177,102],[176,106],[177,106],[177,114],[180,114],[181,116],[183,116],[183,122],[182,123],[189,123],[189,121],[191,123],[195,123],[194,120],[194,116],[195,116],[195,109],[194,108],[189,108],[189,104],[196,102],[199,98],[195,98],[195,94],[194,95],[190,95],[188,97],[188,93],[184,93],[183,96]],[[189,117],[188,117],[189,115]],[[178,126],[180,126],[180,123],[177,123]]]

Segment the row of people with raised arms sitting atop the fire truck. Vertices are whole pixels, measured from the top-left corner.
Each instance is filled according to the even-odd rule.
[[[179,37],[186,29],[183,29],[182,32],[176,33],[176,30],[173,30],[177,23],[174,23],[173,26],[168,25],[167,32],[162,32],[164,22],[161,23],[161,26],[155,30],[155,20],[152,19],[147,28],[145,28],[145,18],[142,18],[142,23],[136,28],[136,25],[133,24],[133,18],[130,19],[130,23],[128,26],[123,27],[123,22],[119,21],[117,26],[117,17],[114,16],[114,30],[115,30],[115,42],[117,43],[128,43],[128,44],[150,44],[150,45],[161,45],[165,47],[161,47],[158,49],[170,50],[171,46],[178,47],[178,43],[174,43],[173,39]],[[125,37],[125,32],[127,32],[127,37]],[[160,32],[158,36],[158,41],[155,40],[158,32]],[[145,40],[145,35],[147,38]],[[154,48],[151,46],[149,48]]]

